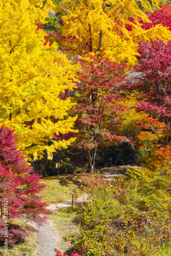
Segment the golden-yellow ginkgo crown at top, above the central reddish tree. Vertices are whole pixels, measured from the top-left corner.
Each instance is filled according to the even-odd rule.
[[[158,7],[159,0],[63,0],[57,11],[62,13],[61,49],[73,55],[94,52],[96,56],[132,66],[137,61],[138,42],[170,38],[162,25],[149,30],[140,21],[151,23],[144,10]],[[142,8],[140,8],[141,6]],[[62,25],[62,26],[61,26]]]

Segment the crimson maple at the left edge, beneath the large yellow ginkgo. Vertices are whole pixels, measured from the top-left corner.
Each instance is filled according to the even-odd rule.
[[[14,218],[45,223],[50,213],[41,201],[39,191],[45,187],[33,168],[26,164],[22,152],[15,146],[13,131],[0,129],[0,241],[4,241],[4,226],[8,225],[8,243],[15,243],[27,232],[12,223]]]

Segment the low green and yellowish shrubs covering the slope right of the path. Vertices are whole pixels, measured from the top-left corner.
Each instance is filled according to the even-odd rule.
[[[78,205],[82,226],[79,245],[86,255],[166,255],[171,238],[171,196],[159,171],[134,167],[127,177],[106,182],[99,175],[86,178],[89,200]]]

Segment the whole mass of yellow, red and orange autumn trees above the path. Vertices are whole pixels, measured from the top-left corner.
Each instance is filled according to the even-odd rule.
[[[0,3],[1,221],[9,197],[10,218],[43,222],[40,177],[26,160],[51,160],[70,145],[87,152],[91,173],[98,148],[121,142],[150,170],[169,170],[171,7],[159,4]]]

